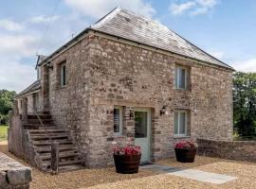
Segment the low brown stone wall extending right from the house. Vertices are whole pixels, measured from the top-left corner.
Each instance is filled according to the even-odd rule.
[[[197,139],[198,154],[228,160],[256,162],[256,142]]]

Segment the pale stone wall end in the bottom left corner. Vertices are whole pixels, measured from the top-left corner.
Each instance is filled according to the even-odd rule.
[[[28,189],[31,169],[0,152],[0,189]]]

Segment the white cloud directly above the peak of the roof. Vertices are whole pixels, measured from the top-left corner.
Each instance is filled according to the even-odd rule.
[[[65,0],[65,3],[83,15],[93,18],[101,18],[116,7],[130,9],[146,17],[152,17],[155,14],[155,9],[151,4],[143,0]]]

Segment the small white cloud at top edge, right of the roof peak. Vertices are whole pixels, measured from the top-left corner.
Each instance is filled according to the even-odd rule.
[[[191,16],[206,14],[214,9],[220,0],[187,0],[183,3],[172,3],[169,10],[173,15],[188,13]]]

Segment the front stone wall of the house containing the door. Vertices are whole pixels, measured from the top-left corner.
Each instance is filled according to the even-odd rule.
[[[114,136],[111,116],[113,107],[144,107],[152,114],[152,160],[174,156],[174,110],[185,109],[191,114],[188,138],[206,137],[231,140],[232,77],[231,71],[194,63],[190,60],[119,43],[100,36],[89,38],[90,88],[90,146],[91,160],[104,164]],[[175,65],[190,70],[188,91],[174,89]],[[159,114],[167,106],[168,114]],[[123,125],[125,128],[125,124]],[[129,124],[133,133],[135,124]],[[106,131],[108,129],[108,131]],[[97,133],[97,135],[95,134]],[[134,134],[134,133],[133,133]],[[134,138],[123,132],[122,139]],[[111,163],[112,159],[107,159]]]

